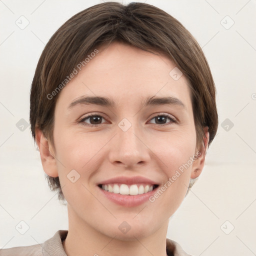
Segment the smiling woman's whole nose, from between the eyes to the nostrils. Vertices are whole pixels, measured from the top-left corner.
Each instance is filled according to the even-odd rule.
[[[144,145],[142,132],[135,123],[136,118],[123,118],[116,127],[116,136],[110,149],[110,160],[133,165],[149,159],[148,149]]]

